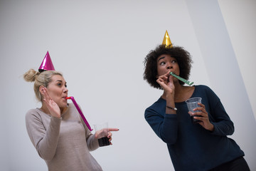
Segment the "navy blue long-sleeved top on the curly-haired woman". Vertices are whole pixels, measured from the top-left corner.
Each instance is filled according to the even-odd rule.
[[[175,103],[177,114],[166,114],[166,100],[159,98],[145,110],[145,119],[166,142],[175,170],[210,170],[245,155],[234,140],[234,125],[208,86],[195,86],[191,98],[201,97],[214,131],[192,123],[185,102]]]

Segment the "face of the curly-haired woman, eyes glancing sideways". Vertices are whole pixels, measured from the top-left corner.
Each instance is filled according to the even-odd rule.
[[[173,72],[179,76],[180,70],[176,58],[172,58],[170,55],[163,54],[157,58],[156,62],[158,76],[162,76],[167,72]]]

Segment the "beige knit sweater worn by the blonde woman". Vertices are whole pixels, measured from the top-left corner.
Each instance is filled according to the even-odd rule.
[[[61,118],[40,109],[26,113],[28,136],[49,171],[102,170],[89,151],[99,147],[97,139],[80,118],[73,103]]]

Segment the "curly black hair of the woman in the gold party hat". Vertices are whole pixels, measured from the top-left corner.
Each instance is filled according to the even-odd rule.
[[[162,89],[159,83],[156,82],[156,77],[158,76],[156,60],[163,54],[176,58],[180,69],[179,76],[188,80],[191,71],[191,63],[193,63],[190,53],[180,46],[166,47],[165,45],[157,46],[155,50],[149,51],[146,55],[144,59],[144,80],[146,80],[150,86]],[[182,81],[179,81],[179,83],[181,85],[184,84]]]

